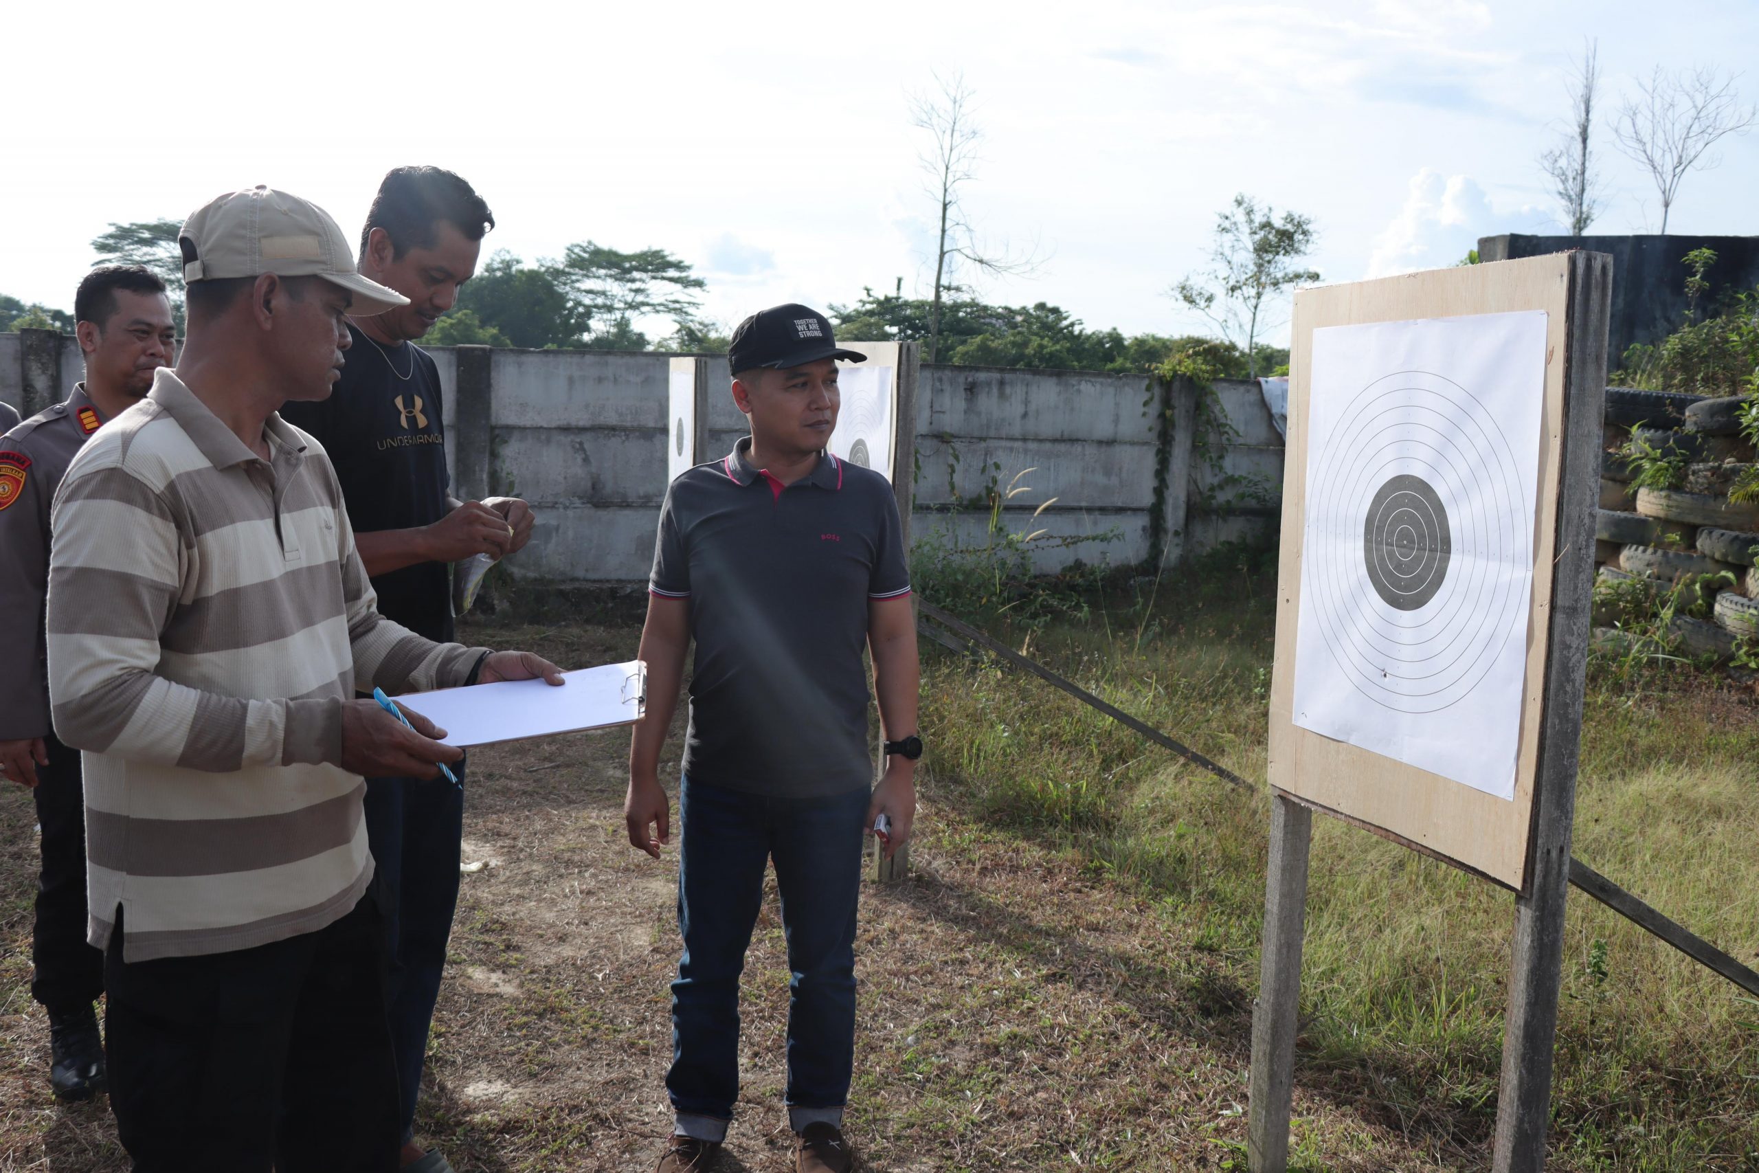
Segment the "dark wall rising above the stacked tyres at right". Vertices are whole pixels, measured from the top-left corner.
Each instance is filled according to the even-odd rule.
[[[1606,366],[1618,369],[1631,343],[1655,345],[1685,318],[1685,260],[1694,248],[1717,253],[1704,273],[1710,292],[1699,304],[1715,302],[1724,292],[1759,285],[1759,236],[1485,236],[1479,260],[1543,257],[1571,248],[1609,253],[1613,259],[1613,315],[1606,339]]]

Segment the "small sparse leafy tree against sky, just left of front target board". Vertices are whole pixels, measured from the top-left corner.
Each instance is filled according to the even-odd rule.
[[[1245,352],[1247,378],[1258,376],[1258,338],[1281,325],[1265,320],[1270,302],[1295,285],[1319,280],[1312,269],[1295,267],[1314,239],[1312,218],[1286,211],[1279,220],[1268,204],[1259,208],[1249,195],[1235,195],[1233,206],[1215,215],[1208,271],[1187,274],[1171,288]]]

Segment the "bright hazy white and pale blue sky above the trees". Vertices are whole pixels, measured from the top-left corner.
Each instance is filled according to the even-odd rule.
[[[1606,109],[1590,230],[1653,230],[1653,188],[1613,144],[1618,98],[1655,67],[1747,69],[1752,0],[21,5],[0,292],[70,308],[107,223],[257,183],[354,236],[387,167],[438,164],[493,206],[484,255],[665,248],[721,324],[899,280],[927,295],[909,109],[957,74],[983,132],[966,213],[992,251],[1038,259],[978,295],[1184,332],[1203,324],[1166,290],[1237,192],[1312,216],[1326,281],[1558,230],[1536,158],[1585,37]],[[1759,72],[1740,84],[1759,98]],[[1671,232],[1759,232],[1759,132],[1717,153]]]

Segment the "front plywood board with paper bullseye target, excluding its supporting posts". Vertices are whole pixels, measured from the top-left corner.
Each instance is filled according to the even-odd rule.
[[[1569,297],[1562,253],[1295,297],[1270,783],[1514,890],[1527,878],[1550,652]],[[1377,339],[1386,353],[1363,359]],[[1325,450],[1309,443],[1316,352],[1351,364],[1332,378],[1342,383],[1330,389]],[[1537,426],[1525,450],[1522,413]],[[1309,549],[1310,505],[1358,531]],[[1527,575],[1518,596],[1511,568]],[[1298,651],[1325,658],[1339,695],[1358,702],[1356,744],[1302,721]],[[1458,716],[1474,702],[1486,709],[1479,725]],[[1386,735],[1395,723],[1412,732]],[[1409,749],[1369,747],[1393,744]],[[1506,793],[1462,781],[1472,770],[1502,777]]]

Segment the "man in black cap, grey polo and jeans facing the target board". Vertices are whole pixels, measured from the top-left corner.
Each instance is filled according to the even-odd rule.
[[[843,1106],[855,1060],[855,909],[862,835],[916,809],[916,628],[897,505],[874,471],[825,443],[837,424],[839,350],[814,310],[774,306],[734,332],[734,403],[749,440],[667,492],[640,658],[647,719],[630,746],[630,842],[660,856],[668,804],[660,747],[684,652],[697,642],[679,818],[672,983],[675,1134],[660,1173],[704,1173],[739,1097],[739,974],[776,862],[788,936],[788,1117],[799,1169],[848,1169]],[[872,788],[867,681],[890,754]]]

